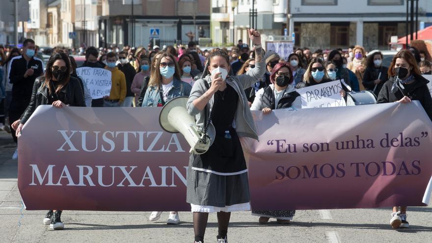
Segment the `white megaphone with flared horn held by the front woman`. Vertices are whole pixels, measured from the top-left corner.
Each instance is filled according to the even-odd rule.
[[[215,140],[216,130],[210,124],[204,134],[195,123],[195,118],[188,114],[186,103],[189,97],[180,96],[167,102],[159,113],[159,124],[168,133],[181,133],[190,145],[190,152],[204,154]]]

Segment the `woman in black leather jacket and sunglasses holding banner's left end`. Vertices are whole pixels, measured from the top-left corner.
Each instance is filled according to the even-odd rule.
[[[50,57],[45,75],[34,81],[30,104],[21,119],[12,124],[17,137],[21,134],[28,118],[40,105],[53,105],[56,108],[85,107],[80,81],[71,77],[69,57],[61,51]],[[44,224],[50,225],[52,229],[63,229],[64,226],[60,219],[61,212],[50,210],[44,218]]]

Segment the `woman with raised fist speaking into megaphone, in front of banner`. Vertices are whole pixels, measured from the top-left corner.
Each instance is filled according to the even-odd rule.
[[[195,242],[204,242],[209,213],[217,213],[218,243],[227,242],[231,212],[250,210],[247,167],[239,137],[258,139],[244,89],[266,72],[261,36],[248,30],[255,45],[255,68],[233,76],[229,55],[215,49],[209,55],[205,78],[197,80],[190,92],[187,110],[196,125],[216,136],[204,154],[190,154],[187,202],[193,212]]]

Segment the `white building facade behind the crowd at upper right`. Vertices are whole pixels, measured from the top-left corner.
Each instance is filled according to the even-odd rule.
[[[234,2],[235,8],[231,0],[212,0],[214,43],[247,40],[252,0]],[[418,4],[418,29],[432,25],[432,1]],[[287,28],[289,39],[295,32],[297,47],[312,50],[351,45],[386,50],[390,36],[403,37],[406,32],[406,0],[255,0],[254,8],[264,41],[269,35],[284,36]]]

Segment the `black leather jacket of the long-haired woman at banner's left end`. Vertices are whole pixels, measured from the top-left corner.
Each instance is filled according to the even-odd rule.
[[[25,124],[33,114],[34,110],[40,105],[51,105],[49,101],[49,91],[47,86],[43,85],[45,77],[39,77],[34,81],[33,92],[31,93],[30,104],[28,104],[26,111],[21,116],[21,124]],[[85,107],[84,92],[81,89],[80,81],[71,77],[69,82],[64,86],[59,95],[61,102],[71,107]]]

